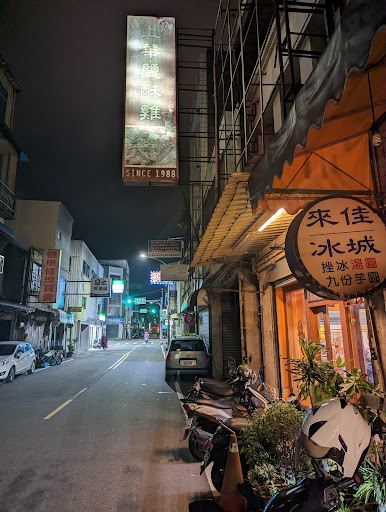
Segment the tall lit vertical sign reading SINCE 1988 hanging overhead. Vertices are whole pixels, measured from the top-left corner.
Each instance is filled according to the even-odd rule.
[[[127,17],[122,181],[178,181],[174,18]]]

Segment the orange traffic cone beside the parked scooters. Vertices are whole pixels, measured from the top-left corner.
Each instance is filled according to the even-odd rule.
[[[237,437],[232,434],[229,442],[227,462],[225,465],[224,481],[221,488],[219,505],[224,512],[244,512],[247,500],[240,494],[238,484],[244,482],[241,469]]]

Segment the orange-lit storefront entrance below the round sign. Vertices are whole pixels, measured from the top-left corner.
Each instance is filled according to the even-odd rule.
[[[373,382],[367,317],[362,299],[325,300],[297,283],[276,288],[276,310],[283,396],[297,389],[287,371],[286,358],[300,358],[299,338],[319,340],[326,347],[322,358],[334,362],[340,357],[347,368],[354,366]]]

